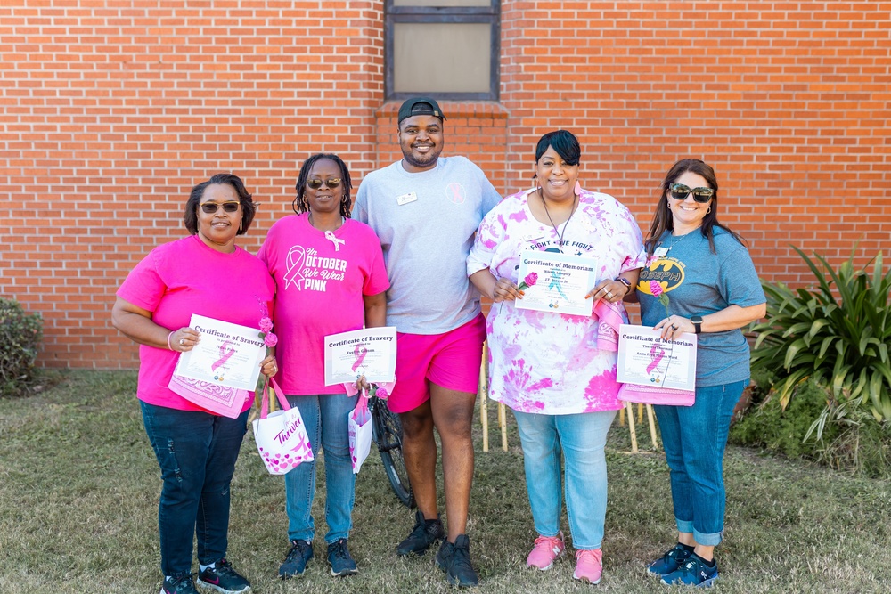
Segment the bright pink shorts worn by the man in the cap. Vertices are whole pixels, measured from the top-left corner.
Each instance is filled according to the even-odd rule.
[[[486,318],[476,318],[445,334],[396,333],[396,387],[389,395],[393,412],[416,409],[430,399],[430,382],[476,394],[486,340]]]

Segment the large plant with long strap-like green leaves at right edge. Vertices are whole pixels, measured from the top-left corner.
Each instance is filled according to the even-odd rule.
[[[811,427],[818,437],[830,413],[842,417],[866,407],[878,420],[891,419],[891,271],[883,274],[881,254],[873,259],[870,274],[866,266],[854,268],[853,253],[836,272],[822,256],[814,254],[821,267],[794,249],[818,286],[793,290],[762,283],[767,318],[751,328],[758,335],[753,369],[779,376],[773,392],[784,408],[807,378],[831,391],[826,410]]]

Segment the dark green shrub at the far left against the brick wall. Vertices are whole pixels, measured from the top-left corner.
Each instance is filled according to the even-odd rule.
[[[0,395],[21,395],[31,387],[43,330],[39,313],[26,313],[18,301],[0,297]]]

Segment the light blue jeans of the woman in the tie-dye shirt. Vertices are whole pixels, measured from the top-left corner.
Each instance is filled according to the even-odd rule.
[[[513,411],[523,445],[526,488],[542,536],[560,533],[560,453],[566,457],[566,511],[576,549],[601,548],[607,514],[603,448],[616,411],[545,415]]]

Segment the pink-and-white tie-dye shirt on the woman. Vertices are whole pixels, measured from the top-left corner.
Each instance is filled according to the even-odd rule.
[[[467,259],[469,276],[488,268],[495,278],[518,283],[521,252],[557,250],[557,232],[529,210],[533,191],[508,196],[483,219]],[[593,256],[599,279],[640,268],[643,244],[634,216],[607,194],[578,191],[576,212],[565,227],[558,225],[563,253]],[[627,321],[624,308],[622,313]],[[521,412],[621,409],[617,355],[597,348],[598,325],[593,316],[517,309],[512,302],[493,305],[486,319],[490,397]]]

